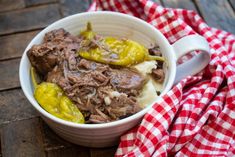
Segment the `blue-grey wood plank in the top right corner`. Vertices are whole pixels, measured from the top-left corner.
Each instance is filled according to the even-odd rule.
[[[209,26],[235,34],[235,14],[227,0],[196,0],[195,2]]]

